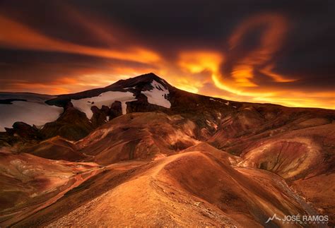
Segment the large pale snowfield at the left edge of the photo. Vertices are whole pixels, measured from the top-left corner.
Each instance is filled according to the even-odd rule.
[[[22,99],[27,101],[13,101],[12,104],[0,104],[0,131],[11,128],[16,121],[35,125],[39,128],[57,120],[63,112],[62,107],[45,104],[53,96],[30,93],[0,92],[0,100]]]

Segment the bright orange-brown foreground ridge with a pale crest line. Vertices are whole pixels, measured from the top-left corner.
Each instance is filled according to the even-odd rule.
[[[15,226],[260,227],[274,213],[313,210],[300,200],[281,176],[192,151],[112,164]]]

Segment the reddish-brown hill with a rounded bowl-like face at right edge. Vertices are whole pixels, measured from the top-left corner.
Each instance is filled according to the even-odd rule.
[[[257,167],[287,179],[334,171],[335,124],[280,133],[242,152],[242,165]]]

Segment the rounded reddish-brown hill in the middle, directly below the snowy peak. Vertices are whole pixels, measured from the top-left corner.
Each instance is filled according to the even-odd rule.
[[[182,116],[163,112],[119,116],[96,129],[76,145],[99,164],[154,159],[175,154],[198,143],[196,125]]]

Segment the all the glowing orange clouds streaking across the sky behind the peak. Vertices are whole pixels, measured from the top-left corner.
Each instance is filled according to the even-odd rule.
[[[223,40],[226,48],[180,47],[173,50],[174,57],[167,57],[164,50],[158,51],[148,46],[131,32],[106,23],[103,18],[86,17],[81,11],[67,5],[63,10],[72,22],[104,45],[91,47],[80,42],[60,40],[0,14],[0,47],[93,56],[100,58],[96,61],[101,61],[102,66],[75,62],[72,65],[69,63],[69,66],[37,63],[35,69],[31,69],[34,66],[28,68],[30,73],[23,72],[25,68],[12,68],[13,72],[6,71],[6,74],[21,73],[27,79],[0,78],[0,90],[59,95],[105,87],[120,79],[154,72],[182,90],[228,100],[335,108],[334,91],[297,90],[289,85],[300,80],[298,75],[276,72],[278,65],[274,57],[283,48],[290,28],[288,19],[278,13],[260,13],[242,20],[228,35],[228,39]],[[245,48],[245,39],[254,30],[259,32],[259,38],[254,46]],[[112,63],[112,60],[118,62]],[[41,67],[47,83],[34,79]],[[56,74],[57,77],[54,77]]]

